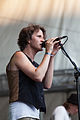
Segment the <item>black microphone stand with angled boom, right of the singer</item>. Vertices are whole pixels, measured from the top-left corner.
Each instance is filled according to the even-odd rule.
[[[62,51],[65,53],[66,57],[70,60],[70,62],[73,64],[75,72],[74,72],[74,77],[76,79],[76,89],[77,89],[77,98],[78,98],[78,117],[80,120],[80,86],[79,86],[79,76],[80,76],[80,70],[77,67],[77,65],[71,60],[67,52],[65,51],[63,45],[59,42],[59,45],[61,46]]]

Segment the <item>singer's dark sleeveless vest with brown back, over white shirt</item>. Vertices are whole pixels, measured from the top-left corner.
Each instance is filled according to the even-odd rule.
[[[28,59],[31,61],[29,57]],[[31,61],[31,63],[38,67],[35,61]],[[43,83],[32,80],[21,70],[11,71],[6,69],[6,71],[10,91],[9,102],[21,101],[25,104],[32,104],[40,111],[46,112]]]

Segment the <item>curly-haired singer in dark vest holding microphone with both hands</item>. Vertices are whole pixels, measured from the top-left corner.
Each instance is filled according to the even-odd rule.
[[[59,41],[50,38],[40,63],[34,61],[37,52],[43,51],[46,30],[31,24],[20,31],[16,51],[6,66],[9,85],[9,119],[39,120],[40,111],[46,112],[43,88],[50,88],[53,80],[54,56],[60,49]]]

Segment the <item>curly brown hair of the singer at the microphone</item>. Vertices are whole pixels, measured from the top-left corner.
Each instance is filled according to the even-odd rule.
[[[26,45],[28,44],[28,40],[32,39],[33,33],[39,31],[39,29],[42,30],[43,37],[45,39],[46,38],[46,30],[44,29],[44,27],[42,27],[40,25],[30,24],[28,27],[25,27],[20,31],[17,44],[21,51],[23,51],[25,49]]]

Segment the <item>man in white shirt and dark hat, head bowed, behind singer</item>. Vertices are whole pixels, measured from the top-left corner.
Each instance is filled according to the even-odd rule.
[[[75,115],[78,112],[78,100],[77,94],[71,94],[67,101],[57,106],[53,113],[51,120],[71,120],[71,115]]]

